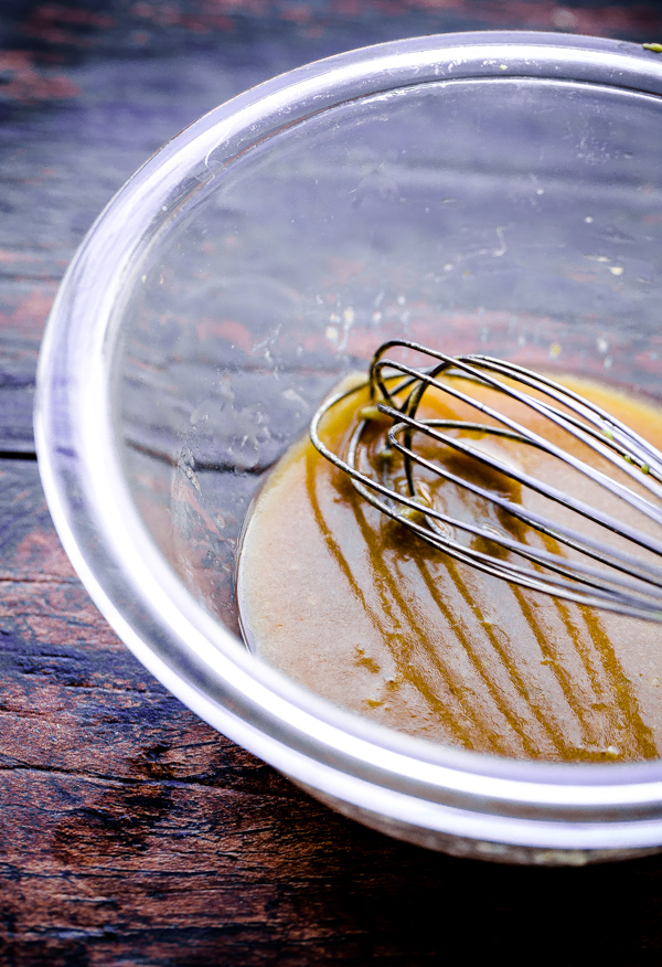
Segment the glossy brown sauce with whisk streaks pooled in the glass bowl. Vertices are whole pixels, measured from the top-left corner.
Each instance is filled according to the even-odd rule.
[[[564,382],[662,448],[662,412],[604,385]],[[351,396],[327,418],[332,448],[342,448],[364,402]],[[364,458],[376,461],[376,447]],[[564,470],[548,472],[568,486]],[[516,499],[537,499],[493,482]],[[434,478],[427,486],[440,499]],[[590,485],[570,486],[604,500]],[[496,513],[463,491],[446,488],[444,500],[483,522]],[[388,727],[524,759],[639,761],[662,748],[662,625],[453,562],[362,500],[308,438],[285,455],[255,503],[237,588],[258,656]]]

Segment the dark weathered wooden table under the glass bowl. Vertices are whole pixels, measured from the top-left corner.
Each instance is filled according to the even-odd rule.
[[[300,63],[484,28],[662,40],[650,2],[4,0],[0,13],[0,964],[662,957],[662,857],[460,861],[332,812],[154,681],[87,597],[34,457],[36,355],[83,234],[162,141]]]

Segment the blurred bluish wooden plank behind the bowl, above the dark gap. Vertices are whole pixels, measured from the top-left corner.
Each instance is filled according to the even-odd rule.
[[[0,49],[0,449],[32,448],[25,413],[57,281],[96,215],[161,144],[246,87],[348,45],[494,25],[490,4],[473,9],[461,0],[434,12],[423,0],[409,0],[401,15],[384,2],[342,13],[303,3],[291,19],[268,2],[247,10],[231,4],[222,15],[201,0],[169,9],[171,23],[153,4],[104,15],[85,4],[76,17],[57,4],[19,4],[6,13],[14,50]],[[597,12],[585,9],[555,24],[554,9],[521,2],[509,15],[517,26],[634,40],[643,30],[662,31],[662,13],[652,6],[599,11],[599,24]],[[218,47],[228,36],[233,42]],[[161,56],[118,70],[118,52],[128,51]],[[25,392],[15,389],[17,380]]]

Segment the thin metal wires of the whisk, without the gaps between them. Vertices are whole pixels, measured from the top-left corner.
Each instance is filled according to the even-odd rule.
[[[425,368],[414,368],[386,358],[391,349],[410,350],[434,362]],[[384,438],[385,449],[401,454],[407,492],[396,490],[393,482],[378,479],[380,475],[370,476],[359,468],[359,455],[369,446],[366,431],[371,426],[374,437],[372,417],[359,414],[344,455],[330,450],[321,438],[320,426],[324,416],[348,396],[365,387],[373,403],[372,408],[376,403],[376,410],[392,421]],[[471,391],[476,393],[477,390],[483,396],[487,391],[488,396],[509,397],[514,401],[516,408],[524,407],[523,412],[531,413],[536,421],[542,418],[543,425],[547,421],[569,434],[588,454],[598,456],[616,468],[619,475],[636,482],[647,496],[594,466],[592,461],[580,459],[531,425],[485,402],[485,399],[472,395]],[[418,411],[425,394],[430,391],[478,411],[481,417],[490,422],[420,418]],[[633,553],[612,541],[607,542],[584,530],[579,531],[498,492],[493,487],[453,472],[441,458],[437,459],[436,454],[430,459],[416,448],[419,434],[428,440],[428,449],[430,443],[438,445],[440,454],[444,453],[441,448],[450,448],[463,458],[496,471],[504,480],[537,492],[552,506],[579,516],[591,528],[597,525],[610,532],[620,543],[643,550],[649,557],[642,556],[640,551]],[[588,503],[555,487],[547,479],[538,479],[523,466],[513,466],[510,460],[500,459],[493,453],[467,442],[467,436],[477,435],[535,448],[578,471],[645,519],[662,524],[662,454],[592,401],[547,376],[504,360],[480,354],[451,357],[420,343],[391,340],[380,347],[373,357],[367,383],[329,397],[310,425],[313,445],[325,459],[351,477],[357,493],[427,545],[488,575],[533,591],[662,621],[662,567],[656,563],[662,556],[662,541],[650,533],[650,527],[645,530],[637,528],[592,502]],[[415,467],[519,520],[528,529],[526,540],[511,536],[505,530],[495,532],[480,520],[460,520],[423,500],[421,484],[417,480]],[[463,540],[458,538],[458,531],[465,534]],[[541,541],[544,546],[540,545]],[[559,548],[564,545],[570,555],[549,550],[549,541]],[[508,553],[504,555],[503,552]],[[512,555],[517,560],[513,560]],[[653,560],[650,560],[651,555]],[[592,562],[597,562],[597,566]]]

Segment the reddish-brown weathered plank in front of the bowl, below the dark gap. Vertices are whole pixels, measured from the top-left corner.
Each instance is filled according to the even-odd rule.
[[[429,853],[200,722],[87,597],[35,465],[0,470],[0,963],[415,967],[458,944],[540,946],[551,923],[568,925],[545,941],[559,963],[580,924],[577,956],[660,956],[662,857],[575,871]]]

